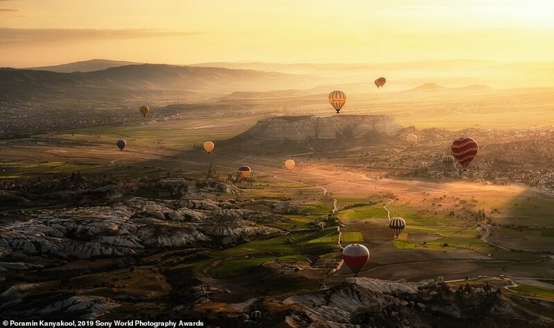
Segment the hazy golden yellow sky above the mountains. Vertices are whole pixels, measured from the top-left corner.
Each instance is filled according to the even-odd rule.
[[[0,0],[0,66],[554,59],[554,0]]]

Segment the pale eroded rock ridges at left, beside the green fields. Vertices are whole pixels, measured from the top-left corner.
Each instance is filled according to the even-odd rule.
[[[8,255],[112,257],[147,248],[235,244],[283,233],[258,225],[268,213],[233,209],[215,201],[128,199],[113,206],[28,210],[0,226],[0,258]],[[0,264],[0,270],[27,268]]]

